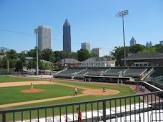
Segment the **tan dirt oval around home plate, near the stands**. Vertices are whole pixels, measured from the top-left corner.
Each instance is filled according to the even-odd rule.
[[[101,89],[86,89],[82,91],[86,95],[116,95],[119,93],[118,90],[106,89],[105,92]]]

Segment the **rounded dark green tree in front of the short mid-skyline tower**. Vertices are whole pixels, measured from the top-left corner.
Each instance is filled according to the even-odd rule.
[[[84,61],[88,58],[90,58],[90,54],[89,54],[89,51],[88,50],[85,50],[85,49],[80,49],[78,52],[78,60],[79,61]]]

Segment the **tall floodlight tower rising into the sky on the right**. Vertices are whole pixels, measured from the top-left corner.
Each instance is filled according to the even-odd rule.
[[[124,66],[127,66],[126,63],[126,42],[125,42],[125,23],[124,23],[124,17],[128,15],[128,10],[123,10],[118,12],[118,17],[122,18],[122,29],[123,29],[123,45],[124,45]]]

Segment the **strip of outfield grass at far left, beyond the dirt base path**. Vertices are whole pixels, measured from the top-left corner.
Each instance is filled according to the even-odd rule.
[[[0,75],[0,83],[5,82],[21,82],[21,81],[34,81],[39,80],[38,78],[18,77],[12,75]]]

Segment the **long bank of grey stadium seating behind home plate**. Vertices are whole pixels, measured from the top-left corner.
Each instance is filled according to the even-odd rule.
[[[85,76],[141,77],[146,68],[71,68],[56,73],[55,77],[84,78]]]

